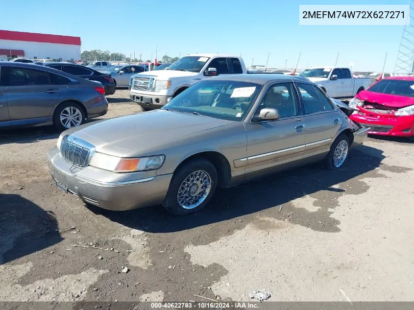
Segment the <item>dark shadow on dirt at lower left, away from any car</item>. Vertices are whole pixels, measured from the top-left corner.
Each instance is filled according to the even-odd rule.
[[[62,240],[54,214],[16,194],[0,194],[0,264]]]

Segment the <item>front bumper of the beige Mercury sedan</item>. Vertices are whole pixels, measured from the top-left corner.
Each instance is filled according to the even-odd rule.
[[[172,177],[172,174],[155,175],[154,171],[145,171],[133,173],[141,176],[131,179],[131,173],[120,174],[91,166],[73,169],[56,146],[48,152],[48,166],[60,189],[84,202],[115,211],[161,204]]]

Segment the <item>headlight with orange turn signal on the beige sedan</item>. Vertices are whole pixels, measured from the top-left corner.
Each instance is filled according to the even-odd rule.
[[[115,172],[154,170],[164,164],[165,156],[121,158],[103,153],[95,153],[89,165]]]

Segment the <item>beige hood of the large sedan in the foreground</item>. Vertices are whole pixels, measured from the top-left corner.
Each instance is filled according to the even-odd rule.
[[[196,132],[225,126],[234,121],[175,111],[154,110],[88,123],[65,131],[95,145],[98,152],[114,156],[141,156],[162,152],[170,141]],[[77,130],[78,129],[78,130]]]

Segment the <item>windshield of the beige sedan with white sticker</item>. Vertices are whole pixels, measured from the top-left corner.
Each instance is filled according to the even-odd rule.
[[[249,82],[201,81],[172,98],[162,109],[241,121],[261,88],[261,84]]]

